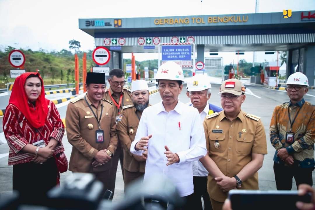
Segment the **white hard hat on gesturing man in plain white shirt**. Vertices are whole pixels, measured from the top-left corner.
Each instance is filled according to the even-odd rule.
[[[184,82],[184,73],[178,64],[167,61],[157,69],[155,79],[181,80]]]

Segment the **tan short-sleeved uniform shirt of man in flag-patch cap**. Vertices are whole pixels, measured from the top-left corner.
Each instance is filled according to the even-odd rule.
[[[207,115],[203,122],[209,156],[221,172],[228,177],[235,176],[252,160],[252,153],[267,154],[264,125],[259,117],[246,114],[242,110],[237,118],[230,121],[224,111]],[[215,143],[219,143],[217,149]],[[241,190],[258,190],[258,173],[242,180]],[[208,192],[212,199],[223,202],[227,193],[223,192],[214,177],[208,175]]]

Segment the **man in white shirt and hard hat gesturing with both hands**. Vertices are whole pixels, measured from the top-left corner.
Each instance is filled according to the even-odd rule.
[[[186,201],[182,209],[191,209],[192,162],[207,152],[202,121],[196,108],[178,99],[184,81],[180,66],[164,63],[156,79],[162,101],[143,111],[130,151],[135,155],[148,151],[144,181],[156,174],[166,176]]]

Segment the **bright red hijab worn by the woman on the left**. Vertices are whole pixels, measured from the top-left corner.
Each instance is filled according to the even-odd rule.
[[[39,97],[36,99],[35,110],[28,105],[28,97],[26,96],[24,89],[26,79],[31,74],[37,75],[42,83],[42,91]],[[16,106],[24,114],[26,119],[31,123],[34,128],[43,127],[48,113],[48,102],[45,98],[43,79],[41,78],[39,73],[27,72],[18,76],[14,81],[9,103]]]

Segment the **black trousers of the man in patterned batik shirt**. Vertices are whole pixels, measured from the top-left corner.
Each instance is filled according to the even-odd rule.
[[[292,178],[294,177],[296,187],[300,184],[313,185],[312,168],[300,168],[294,166],[284,166],[283,164],[274,163],[273,171],[275,173],[277,190],[291,190]]]

